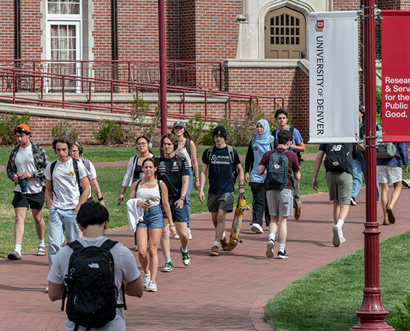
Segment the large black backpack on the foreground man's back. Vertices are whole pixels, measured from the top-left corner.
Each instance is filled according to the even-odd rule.
[[[117,307],[124,307],[125,294],[122,284],[122,305],[117,305],[119,291],[115,286],[114,258],[110,249],[117,241],[110,239],[98,246],[83,247],[79,241],[68,243],[73,252],[69,258],[68,275],[61,310],[67,295],[67,316],[87,330],[101,328],[113,321]]]

